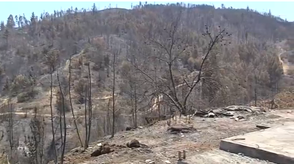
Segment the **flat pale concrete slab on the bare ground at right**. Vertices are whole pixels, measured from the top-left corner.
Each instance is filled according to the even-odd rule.
[[[294,164],[294,122],[223,139],[220,149],[276,164]]]

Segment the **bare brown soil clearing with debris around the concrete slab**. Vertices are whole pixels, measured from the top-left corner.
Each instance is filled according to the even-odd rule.
[[[121,132],[114,138],[104,137],[86,150],[73,149],[66,155],[64,164],[270,164],[242,154],[223,152],[218,149],[220,140],[258,131],[257,125],[271,127],[294,120],[294,114],[290,110],[271,110],[252,113],[242,119],[193,117],[190,121],[177,120],[176,125],[174,120],[171,126],[166,120],[159,121],[150,127]],[[132,142],[135,146],[130,147]],[[178,161],[177,152],[183,150],[187,158]]]

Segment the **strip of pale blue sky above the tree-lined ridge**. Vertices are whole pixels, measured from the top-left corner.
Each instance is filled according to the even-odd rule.
[[[144,1],[145,2],[145,1]],[[144,3],[142,1],[142,3]],[[164,1],[147,1],[148,3],[167,3]],[[185,1],[183,1],[185,2]],[[23,13],[26,15],[27,18],[30,17],[32,12],[35,12],[36,15],[40,16],[40,14],[45,11],[49,13],[53,13],[54,10],[60,9],[68,9],[71,6],[73,8],[77,7],[78,9],[81,8],[91,8],[94,2],[62,2],[62,1],[54,1],[54,2],[0,2],[0,21],[5,21],[10,14],[13,16],[15,15],[22,15]],[[138,1],[128,1],[128,2],[115,2],[115,1],[108,1],[108,2],[95,2],[97,8],[99,10],[108,7],[111,4],[111,7],[120,7],[120,8],[131,8],[131,4],[137,5]],[[172,1],[170,3],[173,3]],[[189,3],[189,2],[185,2]],[[193,2],[194,4],[214,4],[215,7],[220,7],[222,3],[225,4],[225,7],[233,7],[233,8],[246,8],[247,5],[249,8],[258,10],[259,12],[268,12],[271,10],[272,15],[280,16],[283,19],[287,19],[288,21],[294,21],[294,14],[293,14],[293,6],[294,2],[209,2],[209,1],[197,1]]]

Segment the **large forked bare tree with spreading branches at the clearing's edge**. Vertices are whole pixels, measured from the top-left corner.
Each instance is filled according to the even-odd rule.
[[[169,101],[164,101],[165,103],[168,103],[172,106],[175,106],[179,112],[183,115],[185,115],[188,112],[188,99],[190,97],[191,92],[197,84],[199,84],[201,81],[216,81],[215,79],[211,77],[206,77],[204,75],[204,64],[208,60],[208,57],[210,54],[216,49],[216,45],[222,42],[222,45],[225,45],[226,43],[226,37],[229,37],[231,34],[226,32],[226,29],[221,29],[219,27],[219,31],[213,36],[209,30],[209,27],[206,25],[206,31],[203,33],[203,36],[208,37],[209,43],[206,50],[206,53],[204,54],[200,68],[197,70],[198,74],[193,75],[190,79],[183,78],[184,85],[177,85],[175,81],[175,75],[173,73],[173,65],[175,64],[176,60],[178,60],[179,56],[183,53],[185,53],[186,49],[189,47],[192,48],[192,46],[188,45],[188,39],[180,39],[181,36],[179,36],[179,24],[180,24],[180,17],[181,17],[181,11],[177,15],[175,21],[171,24],[170,29],[165,29],[167,31],[167,38],[164,41],[160,41],[160,39],[148,39],[147,45],[150,45],[151,47],[156,46],[158,49],[163,50],[165,53],[164,55],[160,56],[153,56],[152,58],[156,58],[162,62],[164,62],[168,66],[168,74],[169,79],[171,81],[171,85],[166,84],[158,84],[154,77],[142,68],[139,68],[138,66],[134,65],[134,67],[137,68],[137,70],[145,77],[146,81],[150,83],[153,88],[156,88],[156,90],[161,94],[167,97]],[[183,96],[182,99],[178,96],[177,88],[184,86],[188,87],[187,93]]]

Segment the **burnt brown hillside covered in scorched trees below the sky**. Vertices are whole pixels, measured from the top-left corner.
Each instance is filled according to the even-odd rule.
[[[18,155],[11,164],[47,163],[55,148],[62,156],[171,114],[293,107],[294,24],[270,13],[94,4],[30,20],[10,15],[0,27],[0,148]]]

